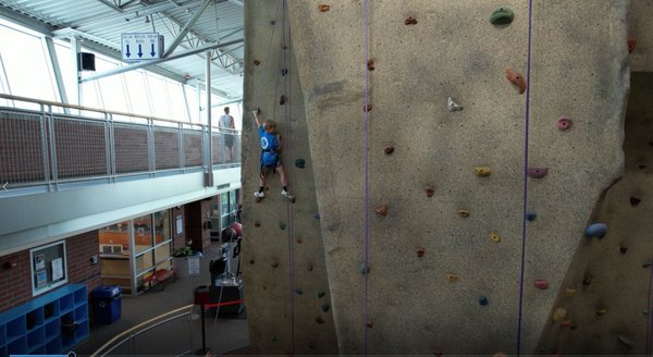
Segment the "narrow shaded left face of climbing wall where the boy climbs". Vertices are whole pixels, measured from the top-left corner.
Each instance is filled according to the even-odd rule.
[[[246,1],[243,115],[243,273],[251,354],[337,354],[305,119],[304,97],[282,1]],[[282,98],[283,97],[283,98]],[[251,111],[278,123],[282,160],[296,196],[270,174],[259,188],[260,139]]]

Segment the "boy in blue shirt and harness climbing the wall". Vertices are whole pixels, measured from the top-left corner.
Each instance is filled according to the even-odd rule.
[[[256,120],[256,126],[259,130],[259,136],[261,137],[261,181],[259,190],[254,193],[256,198],[266,197],[266,178],[268,177],[268,172],[270,169],[279,171],[279,175],[281,176],[281,185],[283,189],[281,190],[281,196],[287,199],[294,199],[293,195],[288,192],[288,183],[286,180],[285,171],[283,170],[283,163],[281,162],[281,157],[279,156],[279,150],[281,149],[281,140],[280,136],[276,133],[276,123],[273,120],[267,120],[261,124],[259,119],[260,110],[257,109],[254,112],[254,119]]]

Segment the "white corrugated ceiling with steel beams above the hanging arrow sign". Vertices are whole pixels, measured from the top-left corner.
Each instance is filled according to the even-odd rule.
[[[210,51],[213,94],[232,101],[243,97],[243,0],[0,0],[0,16],[46,36],[74,38],[116,60],[123,59],[123,34],[164,37],[163,58],[85,73],[83,81],[147,67],[177,82],[204,84]]]

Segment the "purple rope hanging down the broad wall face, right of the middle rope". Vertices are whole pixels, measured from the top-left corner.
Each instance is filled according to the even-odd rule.
[[[526,135],[523,141],[523,211],[521,212],[521,271],[519,273],[519,322],[517,325],[517,356],[521,353],[521,320],[523,311],[523,270],[526,266],[526,211],[528,204],[528,128],[530,119],[530,70],[532,0],[528,1],[528,62],[526,72]]]

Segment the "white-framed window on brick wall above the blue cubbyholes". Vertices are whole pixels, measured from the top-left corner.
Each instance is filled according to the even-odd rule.
[[[65,241],[29,250],[32,293],[39,295],[67,283]]]

